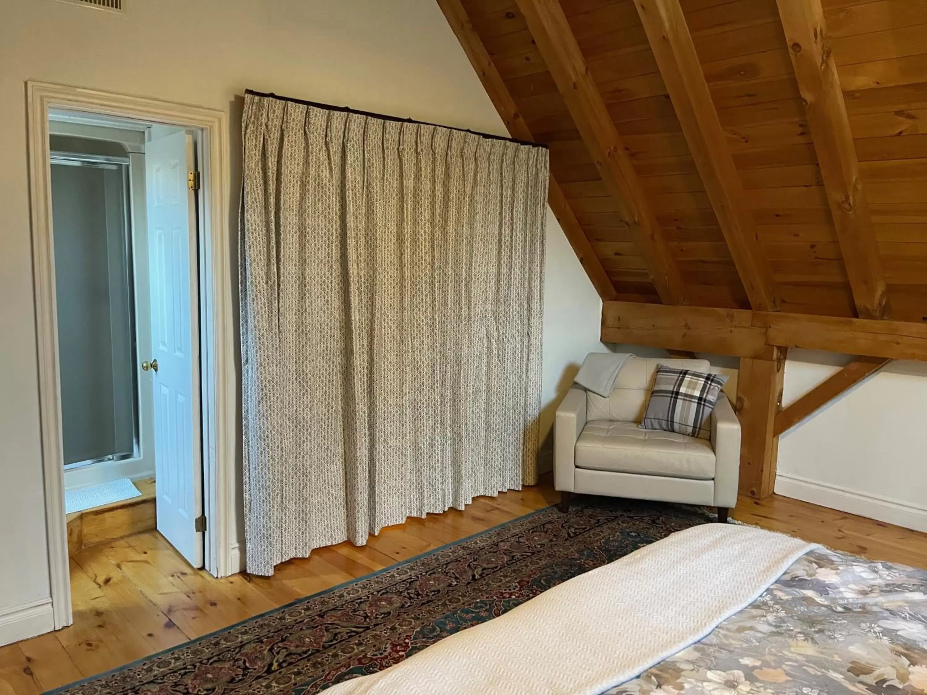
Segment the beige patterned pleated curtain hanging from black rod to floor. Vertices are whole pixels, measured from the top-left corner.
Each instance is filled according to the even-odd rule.
[[[537,479],[548,158],[247,95],[248,572]]]

